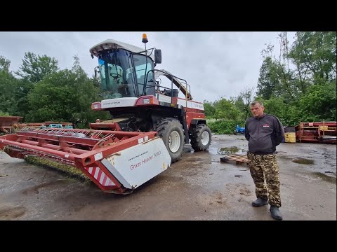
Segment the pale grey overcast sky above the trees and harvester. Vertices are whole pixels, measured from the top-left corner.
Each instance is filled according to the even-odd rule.
[[[156,68],[187,80],[197,102],[236,97],[246,87],[256,90],[265,44],[275,45],[279,55],[279,31],[8,31],[0,32],[0,55],[11,60],[11,71],[19,69],[25,52],[55,57],[60,69],[70,69],[73,55],[78,55],[81,66],[92,76],[98,62],[96,57],[91,59],[91,46],[114,39],[144,48],[143,33],[149,40],[147,48],[161,49],[162,63]],[[288,32],[289,45],[294,35]]]

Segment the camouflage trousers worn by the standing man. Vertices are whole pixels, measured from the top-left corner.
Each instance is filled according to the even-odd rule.
[[[279,166],[276,155],[255,155],[248,152],[248,165],[255,184],[256,197],[269,200],[269,204],[281,207],[279,193]],[[265,183],[267,186],[265,186]]]

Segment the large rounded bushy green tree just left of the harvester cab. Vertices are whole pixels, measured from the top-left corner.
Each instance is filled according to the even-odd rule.
[[[88,78],[78,57],[74,57],[72,70],[50,73],[28,94],[29,105],[34,108],[29,113],[29,120],[69,121],[88,127],[88,123],[95,122],[96,118],[107,116],[91,111],[91,103],[99,100],[98,93],[93,79]]]

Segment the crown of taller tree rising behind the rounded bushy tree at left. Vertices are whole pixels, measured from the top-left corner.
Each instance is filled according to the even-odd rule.
[[[48,73],[58,71],[58,61],[47,55],[35,55],[33,52],[26,52],[22,59],[20,70],[15,72],[18,76],[29,80],[32,83],[38,83]]]

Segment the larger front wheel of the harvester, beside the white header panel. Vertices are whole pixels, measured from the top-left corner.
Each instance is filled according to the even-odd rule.
[[[173,118],[164,118],[157,123],[155,130],[157,135],[163,139],[164,144],[171,156],[171,162],[179,160],[183,154],[184,148],[184,131],[183,125]]]

